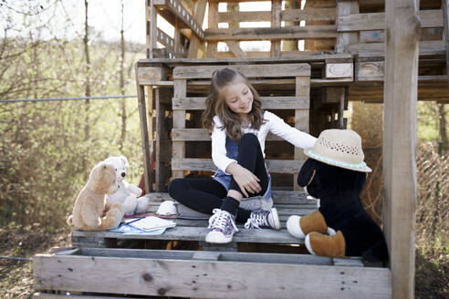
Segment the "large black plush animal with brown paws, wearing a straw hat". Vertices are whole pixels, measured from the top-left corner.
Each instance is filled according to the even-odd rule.
[[[312,254],[387,262],[383,232],[360,201],[371,171],[363,162],[360,136],[349,129],[324,130],[313,149],[304,152],[309,159],[299,171],[298,185],[319,199],[319,208],[304,217],[290,216],[288,232],[306,238]]]

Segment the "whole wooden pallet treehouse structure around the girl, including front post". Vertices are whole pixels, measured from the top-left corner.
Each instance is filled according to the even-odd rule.
[[[384,103],[390,264],[306,254],[304,241],[285,229],[289,215],[317,208],[294,183],[305,156],[268,136],[280,232],[241,230],[232,243],[212,246],[204,242],[207,216],[183,217],[192,211],[181,205],[176,227],[162,235],[74,231],[75,248],[35,256],[37,298],[413,297],[416,100],[448,98],[446,1],[263,3],[269,10],[240,11],[245,0],[146,0],[147,58],[136,64],[136,82],[149,211],[170,199],[169,180],[215,170],[199,119],[214,70],[235,67],[254,84],[264,109],[314,136],[346,128],[349,101]],[[158,15],[173,34],[158,26]],[[257,43],[268,46],[251,47]]]

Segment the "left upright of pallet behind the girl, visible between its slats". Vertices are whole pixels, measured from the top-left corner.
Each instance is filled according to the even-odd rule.
[[[174,98],[185,98],[187,96],[187,81],[183,79],[174,80]],[[173,129],[185,128],[185,110],[173,111]],[[185,157],[185,142],[172,142],[172,159],[182,159]],[[172,163],[172,178],[183,178],[183,171],[174,171]]]

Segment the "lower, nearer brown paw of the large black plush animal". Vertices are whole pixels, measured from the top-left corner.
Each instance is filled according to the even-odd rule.
[[[319,232],[310,232],[306,236],[306,247],[308,252],[314,255],[329,257],[345,256],[345,237],[342,232],[335,235],[325,235]]]

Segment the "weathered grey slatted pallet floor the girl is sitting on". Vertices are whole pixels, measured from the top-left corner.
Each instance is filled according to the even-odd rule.
[[[155,212],[162,201],[172,200],[168,193],[151,193],[147,195],[150,199],[149,212]],[[287,218],[290,215],[306,215],[315,211],[317,201],[308,199],[302,191],[273,191],[273,201],[277,208],[281,225],[280,231],[274,230],[245,230],[243,224],[238,224],[240,232],[235,234],[233,242],[222,246],[226,250],[238,251],[240,243],[257,244],[304,244],[304,240],[293,238],[286,230]],[[176,203],[179,205],[178,203]],[[198,215],[190,217],[183,211],[186,208],[179,205],[178,218],[173,219],[176,226],[167,230],[162,235],[140,235],[140,234],[122,234],[119,232],[72,232],[72,243],[81,248],[106,248],[117,247],[122,240],[137,241],[189,241],[197,242],[201,248],[210,248],[204,243],[205,234],[208,232],[209,215]],[[220,248],[220,246],[214,246]]]

